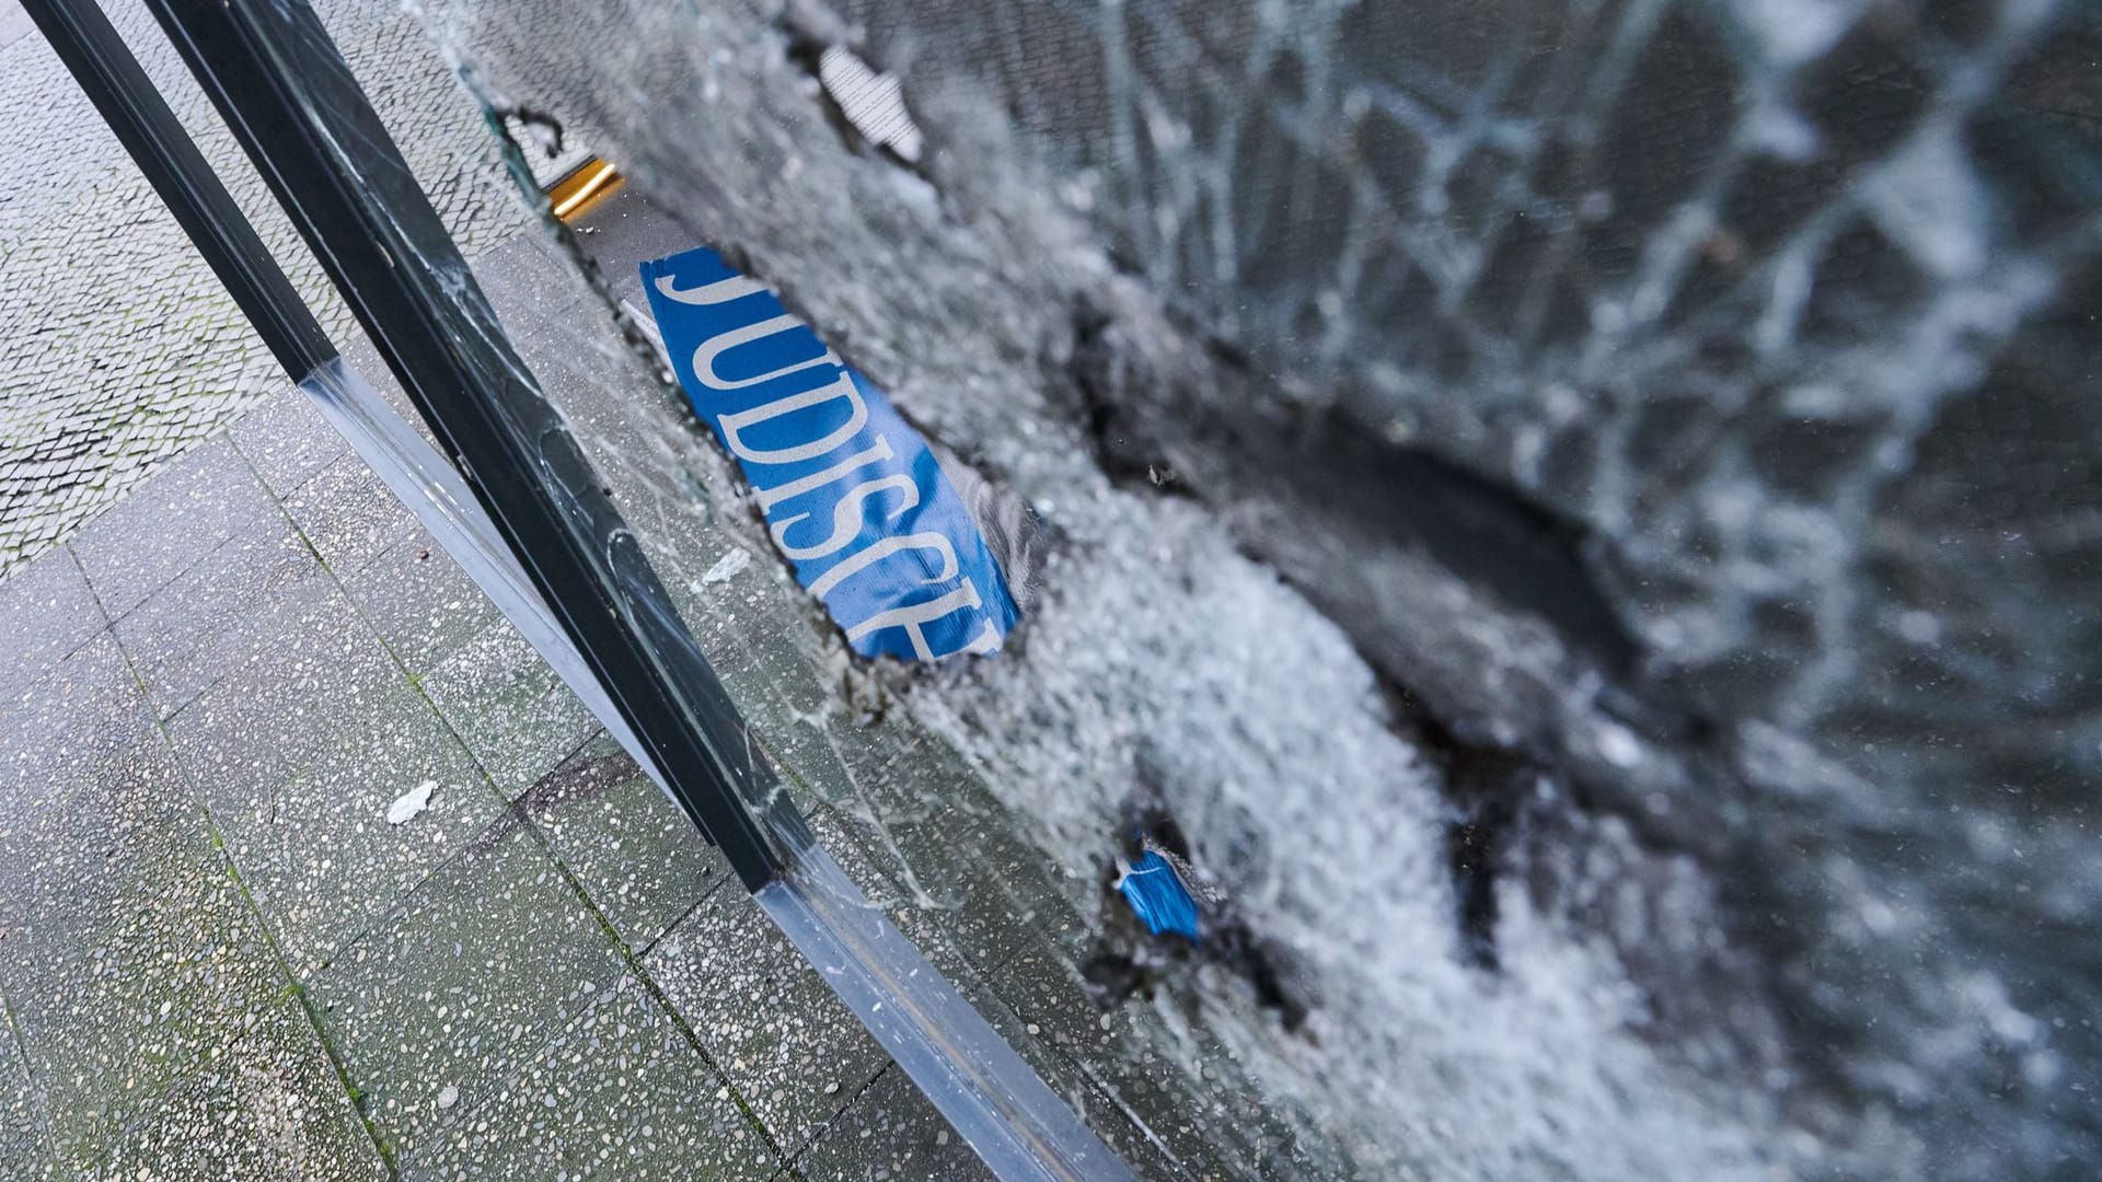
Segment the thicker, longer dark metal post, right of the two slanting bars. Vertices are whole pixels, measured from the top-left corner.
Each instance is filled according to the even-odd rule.
[[[776,879],[807,827],[320,19],[282,0],[147,6],[673,797],[746,890]]]

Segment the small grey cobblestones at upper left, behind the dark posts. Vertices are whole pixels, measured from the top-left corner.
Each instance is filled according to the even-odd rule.
[[[137,0],[107,4],[338,345],[357,330]],[[469,257],[526,225],[479,109],[395,4],[320,4]],[[17,0],[0,0],[0,572],[286,385]]]

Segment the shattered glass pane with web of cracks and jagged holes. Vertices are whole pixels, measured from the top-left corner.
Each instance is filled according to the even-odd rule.
[[[2091,1159],[2094,6],[416,8],[528,200],[624,179],[475,261],[526,362],[818,829],[1097,1129]],[[870,665],[797,589],[650,343],[635,265],[694,246],[1040,524],[1005,652]]]

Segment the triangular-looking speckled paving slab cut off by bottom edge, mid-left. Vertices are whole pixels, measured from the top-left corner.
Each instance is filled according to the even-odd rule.
[[[467,1106],[404,1182],[763,1180],[780,1159],[685,1031],[633,974],[496,1094]]]

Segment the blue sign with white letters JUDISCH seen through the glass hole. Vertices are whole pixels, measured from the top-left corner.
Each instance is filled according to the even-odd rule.
[[[927,442],[765,284],[708,248],[641,265],[694,412],[862,656],[996,652],[1019,610]]]

